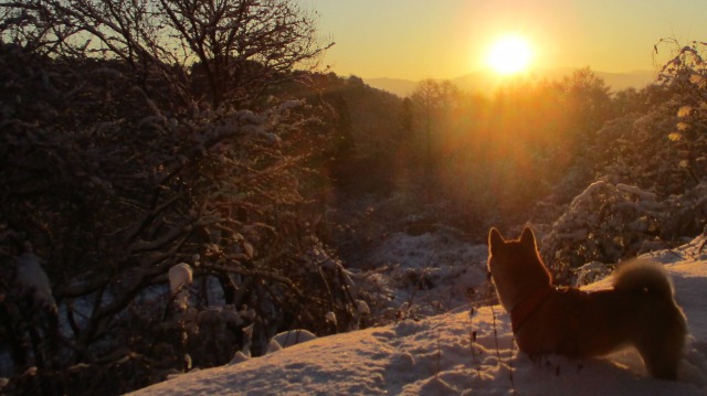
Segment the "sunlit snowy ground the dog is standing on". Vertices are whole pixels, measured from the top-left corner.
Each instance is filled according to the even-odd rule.
[[[672,274],[692,333],[678,382],[648,377],[630,350],[604,358],[531,361],[515,346],[510,320],[500,307],[469,314],[466,306],[420,321],[315,339],[262,357],[235,358],[231,365],[180,375],[136,394],[705,395],[704,240],[652,255]]]

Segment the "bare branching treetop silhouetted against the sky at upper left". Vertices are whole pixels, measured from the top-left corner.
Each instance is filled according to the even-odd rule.
[[[119,58],[213,107],[250,104],[333,45],[292,0],[20,0],[0,12],[3,41]]]

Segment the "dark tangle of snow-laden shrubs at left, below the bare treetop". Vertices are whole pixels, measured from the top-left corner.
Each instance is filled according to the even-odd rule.
[[[22,256],[31,240],[46,275],[33,281],[60,321],[0,282],[0,304],[21,319],[0,323],[7,368],[36,367],[8,389],[124,393],[264,353],[284,330],[357,323],[355,285],[312,221],[326,176],[307,164],[327,158],[330,113],[277,99],[213,109],[181,103],[158,75],[133,84],[122,62],[0,52],[0,272],[35,263]],[[190,277],[169,269],[180,263],[192,272],[178,312],[169,281],[179,295]],[[34,360],[48,340],[56,353]]]

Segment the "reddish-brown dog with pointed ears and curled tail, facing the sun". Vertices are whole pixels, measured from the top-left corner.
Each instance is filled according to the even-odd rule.
[[[520,351],[597,356],[632,345],[651,375],[676,379],[687,325],[662,266],[622,265],[613,289],[584,292],[552,286],[530,228],[508,242],[492,228],[488,247],[488,270]]]

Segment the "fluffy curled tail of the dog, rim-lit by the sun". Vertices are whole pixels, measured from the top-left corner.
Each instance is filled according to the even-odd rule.
[[[662,265],[637,259],[619,266],[614,272],[614,290],[643,291],[673,299],[673,283]]]

